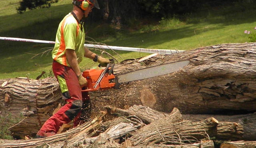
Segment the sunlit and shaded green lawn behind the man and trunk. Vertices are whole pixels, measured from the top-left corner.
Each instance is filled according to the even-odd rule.
[[[1,37],[54,41],[59,21],[72,9],[71,0],[59,0],[49,9],[30,10],[20,15],[16,12],[18,2],[19,0],[0,0]],[[255,17],[255,5],[239,3],[226,6],[225,9],[207,8],[182,17],[162,18],[159,22],[151,24],[144,23],[149,20],[131,20],[130,27],[122,29],[114,29],[108,24],[87,23],[86,35],[97,42],[112,46],[190,50],[215,44],[252,41],[249,40],[250,35],[244,34],[244,30],[256,32]],[[36,78],[42,71],[47,72],[44,77],[50,75],[50,52],[35,58],[28,53],[38,54],[52,48],[53,44],[0,40],[0,45],[1,79],[26,76]],[[117,52],[122,59],[139,58],[149,54]],[[122,59],[118,58],[119,61]],[[80,64],[83,69],[91,66],[95,64],[86,58]]]

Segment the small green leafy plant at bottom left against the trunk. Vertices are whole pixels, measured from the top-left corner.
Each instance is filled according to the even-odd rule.
[[[11,113],[7,116],[0,117],[0,139],[9,139],[12,140],[12,133],[8,130],[12,125],[18,123],[20,118],[13,117]]]

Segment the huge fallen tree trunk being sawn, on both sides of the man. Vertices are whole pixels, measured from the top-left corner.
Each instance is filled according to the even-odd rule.
[[[158,55],[143,63],[132,60],[116,64],[115,73],[120,74],[175,61],[190,61],[176,73],[122,84],[119,89],[91,92],[92,117],[105,105],[124,109],[133,104],[163,112],[171,112],[177,107],[182,114],[254,112],[255,53],[254,43],[221,44]],[[18,136],[34,135],[62,102],[54,78],[6,79],[0,80],[0,84],[0,115],[10,113],[21,118],[19,124],[10,128]],[[31,128],[26,128],[27,125]]]

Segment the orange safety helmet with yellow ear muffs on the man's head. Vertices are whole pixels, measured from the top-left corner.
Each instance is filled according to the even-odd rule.
[[[89,5],[92,5],[95,8],[100,9],[100,6],[97,0],[73,0],[72,3],[78,6],[82,10],[86,10]]]

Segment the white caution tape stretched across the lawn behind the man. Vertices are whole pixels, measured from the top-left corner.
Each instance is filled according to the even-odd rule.
[[[34,40],[34,39],[26,39],[26,38],[0,37],[0,40],[55,44],[54,41]],[[177,53],[177,52],[184,52],[184,50],[146,49],[146,48],[133,48],[133,47],[122,47],[122,46],[107,46],[107,45],[93,45],[93,44],[85,44],[85,46],[86,47],[90,47],[90,48],[103,48],[103,49],[124,50],[124,51],[134,51],[134,52],[147,52],[147,53],[159,53],[159,54],[173,54],[173,53]]]

